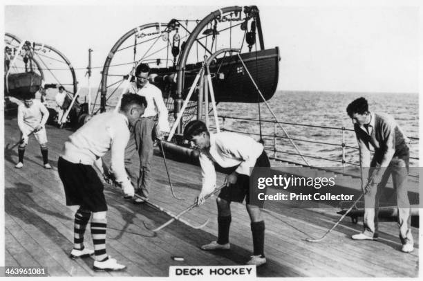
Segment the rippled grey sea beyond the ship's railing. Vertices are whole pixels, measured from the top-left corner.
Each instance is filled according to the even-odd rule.
[[[81,90],[80,102],[86,100],[87,92],[88,89]],[[92,89],[93,100],[95,93],[97,93],[97,89]],[[114,105],[118,96],[119,94],[115,94],[115,97],[108,101],[108,105]],[[419,155],[418,93],[276,91],[274,96],[267,101],[268,107],[264,102],[261,102],[260,105],[219,103],[217,105],[218,116],[220,116],[218,120],[221,129],[249,134],[257,141],[261,138],[261,131],[267,153],[277,158],[294,163],[304,163],[303,159],[297,155],[303,154],[308,163],[316,167],[341,167],[343,158],[344,165],[357,165],[359,163],[357,140],[352,131],[353,123],[346,114],[346,107],[360,97],[368,100],[370,111],[391,114],[406,135],[411,137],[410,164],[417,167]],[[54,97],[50,97],[49,100],[51,98]],[[96,103],[99,102],[97,100]],[[216,131],[212,115],[213,113],[210,112],[210,127],[212,131]],[[169,117],[171,118],[171,114]],[[261,122],[257,120],[261,120]],[[275,126],[274,121],[279,123]],[[276,146],[275,133],[277,136]],[[296,145],[298,151],[292,143]],[[275,147],[276,152],[274,152]]]

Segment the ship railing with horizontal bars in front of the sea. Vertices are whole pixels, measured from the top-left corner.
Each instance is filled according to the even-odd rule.
[[[213,117],[213,116],[210,116]],[[352,163],[346,160],[346,153],[347,153],[347,149],[354,149],[356,151],[358,151],[359,147],[353,146],[353,145],[347,145],[346,144],[346,132],[354,132],[354,129],[348,129],[346,127],[330,127],[330,126],[321,126],[321,125],[309,125],[309,124],[301,124],[301,123],[288,123],[288,122],[277,122],[275,120],[259,120],[259,119],[255,119],[255,118],[241,118],[241,117],[236,117],[236,116],[218,116],[218,118],[220,118],[221,123],[220,123],[220,130],[222,131],[226,131],[226,132],[234,132],[234,133],[238,133],[238,134],[247,134],[247,135],[252,135],[252,136],[260,136],[261,138],[263,138],[263,140],[265,142],[271,141],[272,145],[265,145],[265,150],[268,152],[272,152],[272,156],[270,156],[270,158],[274,159],[275,161],[283,161],[285,163],[290,163],[293,165],[301,165],[301,166],[307,166],[307,167],[313,167],[312,165],[305,165],[304,163],[297,163],[295,161],[287,161],[286,159],[280,158],[278,156],[278,154],[288,154],[288,155],[292,155],[292,156],[304,156],[306,158],[312,158],[312,159],[317,159],[317,160],[324,160],[324,161],[330,161],[330,162],[336,162],[336,163],[341,163],[343,170],[346,167],[346,165],[350,165],[350,166],[356,166],[359,167],[358,163]],[[273,134],[259,134],[259,133],[254,133],[254,132],[243,132],[241,130],[237,130],[237,129],[227,129],[225,126],[225,121],[227,119],[232,119],[232,120],[244,120],[244,121],[251,121],[251,122],[255,122],[255,123],[273,123]],[[213,120],[213,118],[211,118],[211,120]],[[288,138],[287,136],[279,136],[278,135],[278,123],[281,125],[292,125],[292,126],[299,126],[299,127],[314,127],[314,128],[320,128],[320,129],[325,129],[325,130],[337,130],[340,131],[341,136],[339,139],[341,139],[341,143],[331,143],[331,142],[326,142],[326,141],[313,141],[313,140],[308,140],[308,139],[303,139],[303,138]],[[212,129],[216,129],[215,127],[211,127]],[[411,145],[415,145],[418,144],[419,138],[417,137],[413,137],[413,136],[408,136],[408,138],[412,141]],[[327,158],[327,157],[321,157],[321,156],[312,156],[312,155],[308,155],[308,154],[299,154],[297,152],[288,152],[288,151],[282,151],[280,149],[278,149],[278,139],[290,139],[292,141],[298,141],[298,142],[303,142],[303,143],[316,143],[316,144],[320,144],[320,145],[330,145],[330,146],[334,146],[334,147],[340,147],[341,148],[341,159],[337,159],[337,158]],[[419,160],[419,157],[410,157],[410,159],[413,160]],[[338,171],[337,171],[338,172]],[[346,174],[348,176],[357,176],[356,174],[350,174],[348,172],[341,172],[341,174]],[[410,176],[413,177],[417,177],[417,175],[414,174],[410,174]]]

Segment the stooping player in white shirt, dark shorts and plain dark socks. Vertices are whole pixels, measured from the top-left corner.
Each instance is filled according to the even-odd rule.
[[[214,163],[221,167],[236,167],[225,179],[225,188],[216,199],[218,205],[218,240],[201,248],[205,251],[229,250],[229,226],[232,221],[230,203],[242,203],[245,199],[248,215],[251,219],[254,253],[247,264],[260,266],[267,262],[264,256],[265,222],[261,215],[264,201],[258,199],[257,187],[250,187],[250,167],[270,167],[269,158],[261,143],[249,136],[231,132],[209,134],[205,123],[199,120],[189,122],[184,129],[184,138],[191,147],[200,150],[201,174],[203,187],[198,194],[198,204],[204,203],[204,197],[213,192],[216,186]]]

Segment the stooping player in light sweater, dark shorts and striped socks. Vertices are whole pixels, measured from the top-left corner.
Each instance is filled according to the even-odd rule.
[[[146,106],[142,96],[122,96],[120,111],[98,114],[69,136],[57,163],[66,206],[79,206],[75,213],[71,257],[87,257],[94,253],[95,271],[118,271],[126,266],[106,254],[107,205],[104,186],[93,165],[104,172],[101,157],[111,150],[111,170],[115,182],[122,187],[125,195],[133,196],[134,188],[124,169],[124,150],[129,141],[129,126],[135,125]],[[84,247],[84,233],[90,218],[94,251]]]

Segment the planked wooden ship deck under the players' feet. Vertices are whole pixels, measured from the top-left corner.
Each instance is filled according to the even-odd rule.
[[[26,149],[24,167],[15,169],[17,150],[5,151],[5,233],[6,266],[47,266],[54,276],[167,276],[171,265],[236,265],[245,264],[252,255],[250,219],[245,206],[232,203],[230,251],[216,253],[200,250],[200,245],[216,239],[216,203],[209,199],[200,208],[184,216],[200,224],[210,218],[205,228],[195,230],[176,221],[158,232],[144,228],[158,226],[169,219],[154,208],[135,206],[122,199],[120,190],[106,188],[109,206],[107,251],[118,262],[126,264],[120,273],[96,273],[93,260],[71,260],[73,215],[76,207],[67,207],[62,182],[57,174],[57,158],[66,137],[65,129],[47,127],[49,158],[53,170],[42,167],[39,145],[34,138]],[[5,144],[19,138],[16,120],[5,120]],[[136,160],[136,159],[135,159]],[[136,161],[135,161],[136,163]],[[178,213],[193,203],[200,189],[199,167],[168,160],[176,193],[184,201],[171,197],[163,159],[153,160],[151,201]],[[133,167],[138,170],[138,167]],[[223,174],[218,174],[222,182]],[[267,264],[257,269],[260,277],[417,277],[418,228],[413,228],[415,251],[402,253],[395,222],[380,223],[377,242],[355,242],[350,235],[361,232],[362,224],[350,219],[341,222],[319,243],[306,242],[307,237],[321,237],[339,219],[337,209],[305,210],[281,208],[265,214],[265,254]],[[275,213],[276,212],[276,213]],[[89,227],[85,243],[92,246]],[[177,262],[171,256],[182,256]]]

